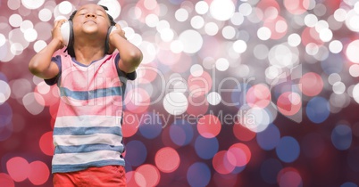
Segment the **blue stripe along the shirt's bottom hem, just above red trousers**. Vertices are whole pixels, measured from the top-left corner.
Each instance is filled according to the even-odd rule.
[[[125,161],[123,159],[108,159],[100,160],[96,162],[88,162],[86,164],[76,164],[76,165],[53,165],[52,173],[67,173],[75,172],[79,170],[87,169],[88,167],[104,167],[104,166],[125,166]]]

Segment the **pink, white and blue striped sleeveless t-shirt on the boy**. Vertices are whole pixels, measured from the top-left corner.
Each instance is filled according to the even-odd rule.
[[[122,97],[127,79],[118,69],[118,52],[85,66],[70,55],[53,57],[60,73],[47,79],[57,83],[60,104],[54,124],[53,173],[108,165],[124,166],[121,153]]]

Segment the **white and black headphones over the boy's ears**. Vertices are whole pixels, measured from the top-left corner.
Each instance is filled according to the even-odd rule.
[[[107,7],[102,6],[104,8],[104,10],[108,10]],[[73,23],[72,23],[72,19],[75,16],[77,11],[72,12],[69,20],[67,20],[66,22],[63,23],[63,25],[61,26],[61,35],[63,37],[63,44],[67,46],[67,48],[65,49],[64,52],[67,51],[67,53],[70,54],[70,56],[74,57],[75,56],[75,52],[73,50],[73,42],[74,42],[74,36],[73,36]],[[107,13],[107,16],[110,19],[111,22],[111,26],[107,29],[107,35],[106,35],[106,39],[104,41],[104,53],[108,54],[109,50],[110,50],[110,44],[109,44],[109,36],[110,33],[113,32],[114,29],[116,29],[115,25],[116,22],[114,22],[113,17]]]

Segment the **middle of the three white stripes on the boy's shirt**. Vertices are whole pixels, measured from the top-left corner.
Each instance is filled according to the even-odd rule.
[[[88,134],[88,135],[54,135],[54,145],[85,145],[104,143],[120,146],[122,137],[115,134]]]

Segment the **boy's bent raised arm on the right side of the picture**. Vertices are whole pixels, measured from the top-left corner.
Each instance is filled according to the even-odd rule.
[[[137,46],[132,45],[124,36],[125,33],[119,24],[110,34],[110,45],[114,46],[120,53],[119,69],[126,73],[135,71],[142,61],[142,52]]]

